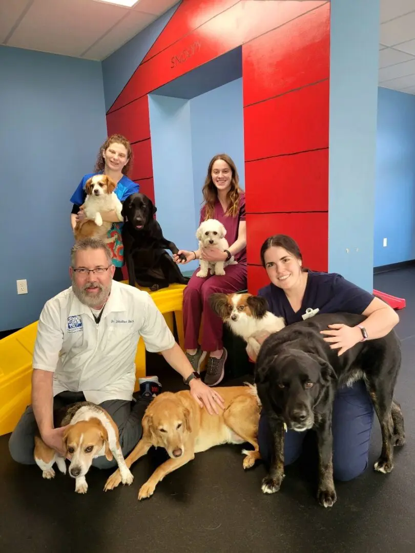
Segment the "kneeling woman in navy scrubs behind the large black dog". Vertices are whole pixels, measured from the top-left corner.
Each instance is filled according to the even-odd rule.
[[[386,336],[399,322],[392,307],[337,273],[320,273],[303,268],[302,254],[292,238],[277,234],[268,238],[261,248],[261,262],[271,284],[258,295],[267,299],[269,310],[282,316],[287,325],[302,321],[312,313],[339,311],[362,314],[367,317],[365,328],[368,340]],[[337,349],[339,355],[363,338],[359,327],[330,325],[321,331],[321,338]],[[266,333],[258,337],[262,343]],[[248,347],[249,356],[255,354]],[[335,395],[333,404],[333,469],[338,480],[359,476],[368,465],[370,436],[373,425],[373,406],[362,380],[351,387],[343,387]],[[293,463],[300,456],[305,434],[288,430],[284,443],[284,464]],[[272,436],[268,420],[261,414],[258,429],[261,457],[271,461]]]

